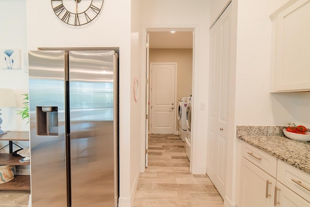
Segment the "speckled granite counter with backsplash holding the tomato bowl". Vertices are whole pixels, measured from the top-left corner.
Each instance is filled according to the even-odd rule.
[[[284,136],[274,126],[237,126],[237,138],[310,174],[310,142],[298,142]]]

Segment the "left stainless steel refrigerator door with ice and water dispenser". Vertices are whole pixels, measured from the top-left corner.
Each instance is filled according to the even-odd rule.
[[[66,207],[64,51],[29,51],[32,207]]]

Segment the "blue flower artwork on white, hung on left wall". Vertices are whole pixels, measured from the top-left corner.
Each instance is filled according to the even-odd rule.
[[[20,49],[0,49],[0,68],[20,69]]]

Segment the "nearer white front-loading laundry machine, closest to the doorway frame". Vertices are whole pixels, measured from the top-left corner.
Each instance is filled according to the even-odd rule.
[[[192,143],[192,100],[193,97],[188,97],[187,107],[186,107],[186,144],[185,144],[185,152],[188,160],[190,161],[190,151],[191,151],[191,143]]]

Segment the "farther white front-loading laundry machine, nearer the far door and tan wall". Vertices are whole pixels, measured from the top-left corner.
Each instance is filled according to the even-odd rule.
[[[185,142],[186,137],[186,107],[187,107],[188,97],[179,98],[178,107],[178,125],[179,125],[179,137]]]

